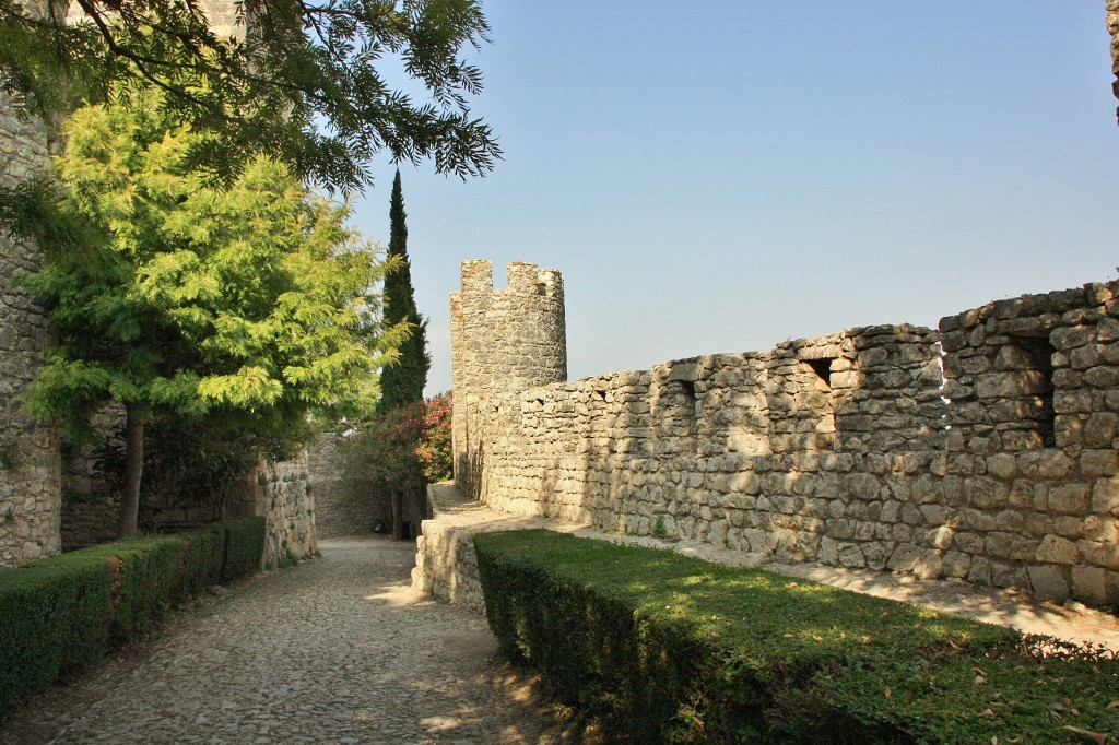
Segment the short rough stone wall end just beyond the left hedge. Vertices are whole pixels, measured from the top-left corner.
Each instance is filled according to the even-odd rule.
[[[265,461],[250,478],[244,500],[231,509],[229,517],[264,517],[264,566],[275,567],[319,550],[314,496],[309,483],[305,450],[290,461]]]

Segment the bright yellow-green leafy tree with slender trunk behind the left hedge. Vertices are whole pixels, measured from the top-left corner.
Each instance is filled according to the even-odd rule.
[[[203,135],[142,95],[148,105],[91,106],[67,125],[57,218],[77,227],[23,280],[58,334],[29,409],[76,425],[110,400],[128,412],[124,534],[152,414],[237,427],[281,456],[311,412],[369,397],[406,333],[380,333],[385,263],[345,205],[260,157],[232,188],[208,186],[189,162]]]

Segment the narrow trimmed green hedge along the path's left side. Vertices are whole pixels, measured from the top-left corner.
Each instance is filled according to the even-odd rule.
[[[150,629],[169,605],[256,570],[263,550],[264,519],[248,517],[0,570],[0,717]]]

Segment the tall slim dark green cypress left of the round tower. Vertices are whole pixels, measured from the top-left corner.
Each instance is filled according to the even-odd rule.
[[[408,228],[405,224],[404,196],[401,191],[401,171],[393,179],[389,207],[388,256],[399,256],[399,265],[385,277],[385,323],[394,326],[407,321],[412,337],[401,346],[401,357],[380,372],[380,402],[377,411],[387,412],[397,406],[423,400],[427,385],[427,321],[416,311],[412,290],[412,266],[408,263]]]

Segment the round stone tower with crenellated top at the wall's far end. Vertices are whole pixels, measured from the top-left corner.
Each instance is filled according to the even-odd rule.
[[[495,290],[490,262],[464,261],[451,295],[454,479],[483,501],[487,456],[516,447],[521,393],[567,379],[563,277],[524,262],[508,273]]]

